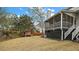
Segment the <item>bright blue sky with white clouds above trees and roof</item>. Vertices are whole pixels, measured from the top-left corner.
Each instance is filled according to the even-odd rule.
[[[63,8],[64,7],[44,7],[44,11],[47,12],[48,9],[51,9],[54,11],[54,13],[57,13]],[[28,7],[7,7],[6,10],[7,10],[7,12],[13,13],[16,15],[22,15],[22,14],[29,15]]]

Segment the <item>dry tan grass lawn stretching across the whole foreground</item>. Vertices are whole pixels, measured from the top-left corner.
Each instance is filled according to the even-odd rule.
[[[58,41],[40,36],[22,37],[0,42],[1,51],[73,51],[79,43],[69,40]]]

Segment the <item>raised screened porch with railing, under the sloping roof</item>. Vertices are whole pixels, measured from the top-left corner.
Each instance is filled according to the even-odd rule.
[[[62,18],[62,21],[61,21]],[[62,23],[62,24],[61,24]],[[45,30],[68,29],[74,24],[74,17],[58,13],[45,21]]]

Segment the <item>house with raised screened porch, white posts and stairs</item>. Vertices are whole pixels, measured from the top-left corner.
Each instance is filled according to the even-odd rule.
[[[47,37],[74,40],[79,35],[79,7],[65,8],[44,23]]]

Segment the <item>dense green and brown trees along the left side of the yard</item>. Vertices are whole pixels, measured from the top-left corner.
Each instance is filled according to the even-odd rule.
[[[5,8],[0,7],[0,37],[10,37],[14,34],[19,35],[26,30],[33,30],[32,17],[28,15],[17,16],[7,13]]]

